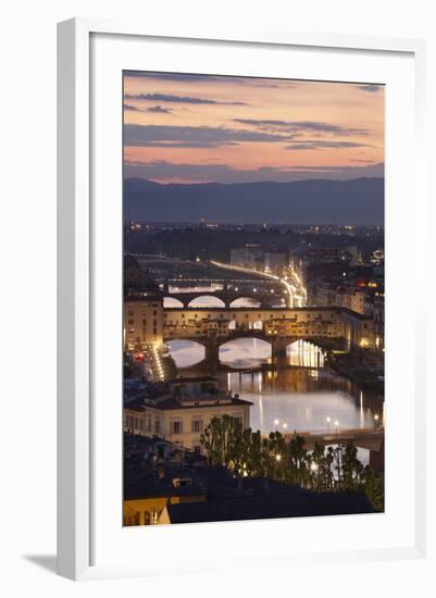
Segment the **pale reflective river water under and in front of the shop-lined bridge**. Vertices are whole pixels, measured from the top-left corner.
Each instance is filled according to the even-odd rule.
[[[173,340],[169,346],[179,369],[189,367],[204,357],[204,348],[199,344]],[[309,351],[312,352],[313,347]],[[232,345],[228,342],[220,351],[220,358],[234,367],[242,369],[238,372],[220,372],[217,377],[223,389],[237,393],[240,398],[253,403],[250,425],[262,434],[275,429],[275,420],[279,421],[278,428],[286,423],[289,432],[327,432],[329,418],[333,432],[335,421],[339,422],[339,429],[364,428],[374,425],[375,413],[383,418],[383,402],[378,398],[362,391],[329,370],[279,367],[247,371],[271,361],[271,347],[263,340],[245,338],[232,341]],[[309,362],[313,361],[313,356],[308,359]],[[288,353],[287,360],[292,363],[292,352]],[[207,372],[200,367],[190,367],[184,375],[200,373]]]

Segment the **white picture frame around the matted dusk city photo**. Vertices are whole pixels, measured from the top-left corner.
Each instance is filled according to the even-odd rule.
[[[117,40],[116,43],[140,42],[140,40],[158,40],[158,43],[171,45],[174,40],[187,40],[197,45],[247,45],[264,46],[265,48],[302,48],[316,51],[329,51],[340,53],[341,51],[370,52],[374,60],[377,57],[403,55],[413,63],[413,123],[410,134],[413,138],[413,148],[410,150],[414,157],[414,172],[411,173],[411,192],[413,194],[413,205],[415,217],[424,217],[425,213],[425,184],[423,166],[423,138],[424,138],[424,60],[425,47],[420,40],[384,39],[371,37],[354,37],[340,35],[316,35],[287,32],[245,32],[235,33],[231,28],[226,32],[216,32],[211,25],[210,30],[198,30],[195,26],[183,27],[180,30],[161,30],[152,25],[142,26],[132,23],[113,23],[100,20],[76,18],[59,24],[58,36],[58,571],[61,575],[73,580],[126,576],[126,575],[152,575],[163,574],[165,570],[159,568],[157,560],[148,559],[147,564],[132,562],[128,559],[124,562],[116,560],[116,557],[108,552],[104,562],[96,562],[96,546],[103,540],[98,536],[101,525],[96,521],[100,516],[101,504],[96,506],[92,495],[99,484],[104,481],[96,479],[96,471],[99,469],[99,450],[96,451],[94,434],[96,431],[96,361],[95,347],[99,339],[96,337],[94,321],[98,320],[96,303],[92,295],[100,283],[97,282],[96,272],[99,267],[99,259],[96,254],[101,253],[102,235],[95,236],[96,207],[92,204],[92,194],[96,192],[92,183],[92,169],[98,167],[92,153],[92,87],[95,82],[91,77],[90,65],[110,63],[111,55],[109,47],[98,50],[97,59],[92,36],[100,36],[101,39]],[[227,41],[226,41],[227,40]],[[111,41],[111,42],[112,42]],[[107,58],[101,58],[107,51]],[[100,58],[99,58],[100,57]],[[99,62],[100,59],[103,62]],[[107,62],[104,62],[104,60]],[[171,55],[166,57],[171,63]],[[96,62],[97,61],[97,62]],[[130,67],[128,64],[126,67]],[[137,65],[135,65],[137,67]],[[236,68],[237,66],[235,66]],[[228,67],[227,67],[228,68]],[[146,68],[145,68],[146,70]],[[177,71],[177,66],[173,68]],[[231,74],[231,73],[229,73]],[[121,85],[121,82],[120,82]],[[120,91],[121,97],[121,91]],[[411,114],[410,117],[412,119]],[[112,151],[119,152],[121,162],[121,147],[114,147],[116,137],[108,133],[109,145],[112,144]],[[96,141],[97,142],[97,141]],[[398,149],[398,148],[397,148]],[[394,151],[394,148],[387,148]],[[398,150],[401,151],[401,150]],[[113,155],[115,155],[113,153]],[[394,182],[394,177],[393,177]],[[121,196],[120,196],[121,202]],[[101,212],[98,212],[101,215]],[[115,211],[113,217],[108,216],[109,227],[116,222]],[[399,216],[398,216],[399,217]],[[394,222],[393,226],[398,227],[400,221]],[[121,224],[120,224],[121,226]],[[422,241],[414,226],[410,233],[413,236],[415,250],[422,249]],[[110,235],[109,235],[110,237]],[[100,239],[96,241],[96,238]],[[107,242],[107,241],[104,241]],[[96,253],[97,251],[97,253]],[[121,257],[121,254],[120,254]],[[422,273],[421,273],[422,274]],[[418,273],[420,275],[420,273]],[[103,284],[103,283],[102,283]],[[116,289],[116,286],[114,287]],[[422,311],[420,303],[422,298],[418,295],[411,299],[411,313],[414,315]],[[394,310],[393,310],[394,313]],[[389,320],[389,319],[388,319]],[[116,331],[119,322],[113,322]],[[388,325],[394,326],[394,316]],[[121,326],[120,326],[121,331]],[[112,331],[113,332],[113,331]],[[422,338],[424,322],[414,320],[409,333],[414,338]],[[408,333],[408,334],[409,334]],[[116,333],[115,333],[116,334]],[[111,337],[112,338],[112,337]],[[410,398],[411,413],[413,414],[413,500],[407,506],[410,511],[410,537],[411,541],[402,541],[401,538],[389,546],[384,538],[378,544],[371,545],[371,541],[361,549],[356,545],[351,550],[338,551],[321,547],[320,550],[311,551],[304,549],[300,553],[294,553],[296,562],[329,562],[335,559],[349,560],[382,560],[393,558],[418,558],[425,553],[425,463],[419,460],[423,454],[425,444],[425,387],[424,387],[424,364],[411,353],[402,356],[413,358],[413,395]],[[116,412],[114,414],[116,419]],[[121,415],[120,415],[121,429]],[[102,437],[99,429],[99,438]],[[100,451],[101,452],[101,451]],[[120,456],[121,459],[121,456]],[[388,454],[389,459],[389,454]],[[98,478],[99,476],[97,476]],[[98,490],[100,491],[100,490]],[[98,493],[97,493],[98,494]],[[101,494],[101,493],[100,493]],[[115,496],[120,500],[121,496]],[[120,511],[121,512],[121,511]],[[107,515],[107,513],[104,513]],[[112,515],[111,515],[112,516]],[[328,519],[328,518],[326,518]],[[406,519],[406,518],[404,518]],[[413,520],[413,521],[412,521]],[[328,522],[319,521],[319,525],[328,528]],[[115,523],[116,524],[116,521]],[[279,522],[282,528],[284,522]],[[111,523],[112,525],[112,523]],[[119,521],[121,527],[121,516]],[[238,524],[236,524],[238,525]],[[240,524],[239,524],[240,525]],[[263,532],[271,533],[278,531],[277,522],[245,522],[244,530],[250,538],[250,530],[253,526],[262,526]],[[304,522],[298,523],[300,531]],[[349,525],[351,523],[349,522]],[[221,532],[219,527],[223,530]],[[266,527],[270,526],[270,527]],[[153,543],[167,543],[171,538],[172,526],[162,526],[161,536],[153,531]],[[207,525],[199,524],[195,528],[180,532],[176,526],[177,541],[188,541],[186,534],[195,534],[197,541],[207,537]],[[237,537],[242,527],[235,527],[235,524],[214,524],[213,534],[217,538],[217,546],[225,536]],[[258,528],[259,530],[259,528]],[[130,531],[132,532],[132,531]],[[141,530],[133,531],[128,543],[138,538]],[[174,533],[174,532],[173,532]],[[183,536],[185,534],[185,536]],[[101,535],[101,534],[100,534]],[[136,536],[136,539],[134,538]],[[340,534],[338,534],[340,535]],[[113,537],[114,538],[114,537]],[[114,541],[114,539],[112,539]],[[141,538],[141,543],[147,538]],[[104,538],[110,544],[110,537]],[[98,550],[97,550],[98,552]],[[256,560],[251,555],[250,561],[253,566],[273,565],[287,566],[287,553],[278,544],[275,552],[263,555],[262,560]],[[248,561],[248,558],[246,559]],[[174,570],[184,569],[186,563],[174,564]],[[197,565],[198,566],[198,565]],[[216,556],[213,553],[204,556],[200,561],[202,570],[220,568]],[[178,568],[178,569],[177,569]]]

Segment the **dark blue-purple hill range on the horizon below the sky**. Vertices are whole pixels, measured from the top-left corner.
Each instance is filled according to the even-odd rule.
[[[124,182],[124,217],[154,222],[384,223],[384,179],[297,180],[224,185]]]

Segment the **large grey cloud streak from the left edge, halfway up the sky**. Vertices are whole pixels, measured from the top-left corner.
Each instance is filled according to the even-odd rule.
[[[124,125],[125,146],[217,148],[240,142],[289,142],[292,136],[207,126]]]

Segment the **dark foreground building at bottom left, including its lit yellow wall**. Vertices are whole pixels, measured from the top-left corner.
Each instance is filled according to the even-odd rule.
[[[133,461],[129,453],[124,472],[124,525],[374,512],[364,493],[314,493],[265,477],[235,478],[200,456],[173,454],[170,443],[142,443],[150,452]]]

